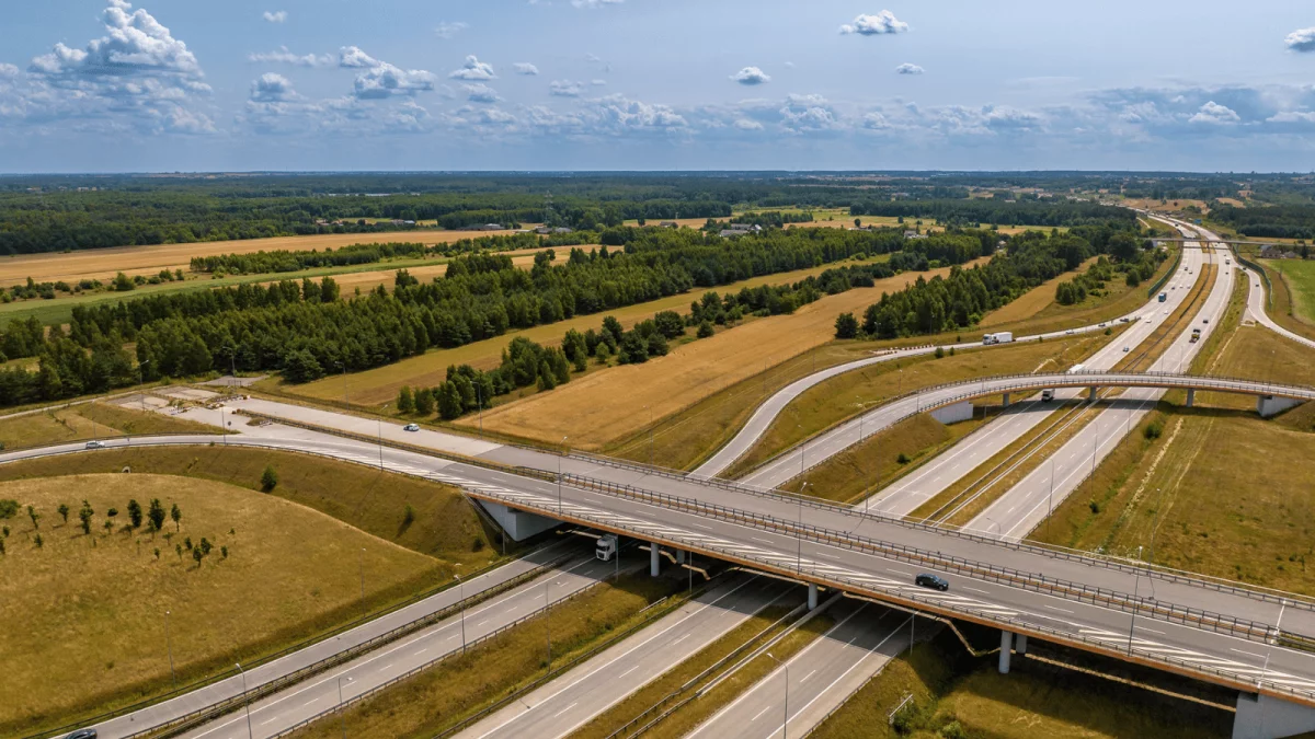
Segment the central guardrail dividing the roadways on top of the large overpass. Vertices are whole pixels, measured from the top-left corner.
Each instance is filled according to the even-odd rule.
[[[1128,596],[1127,593],[1119,593],[1107,588],[1093,588],[1081,583],[981,563],[943,552],[932,552],[906,544],[876,540],[848,531],[814,526],[811,523],[802,522],[802,519],[788,521],[764,513],[732,509],[718,504],[684,498],[654,490],[644,490],[633,485],[623,485],[606,480],[594,480],[579,475],[563,473],[562,477],[563,483],[573,487],[602,490],[605,493],[629,500],[660,505],[663,508],[686,513],[696,513],[698,515],[710,515],[722,521],[750,525],[757,529],[784,533],[792,536],[806,536],[813,542],[828,546],[838,546],[877,556],[894,558],[910,564],[934,567],[936,569],[948,569],[978,580],[989,580],[1027,590],[1043,592],[1065,600],[1077,600],[1080,602],[1089,602],[1103,608],[1114,608],[1116,610],[1136,613],[1159,621],[1190,625],[1199,629],[1207,629],[1211,631],[1262,642],[1268,642],[1276,635],[1276,630],[1272,626],[1249,619],[1235,618],[1231,615],[1174,604],[1165,604],[1147,596]]]

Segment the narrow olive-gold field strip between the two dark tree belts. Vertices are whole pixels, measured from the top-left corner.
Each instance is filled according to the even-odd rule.
[[[559,256],[560,259],[560,256]],[[868,262],[878,262],[888,259],[886,255],[871,259]],[[757,287],[757,285],[778,285],[785,283],[794,283],[807,277],[809,275],[819,275],[826,270],[839,267],[842,264],[851,264],[855,262],[843,262],[836,264],[823,264],[822,267],[813,267],[809,270],[798,270],[794,272],[782,272],[778,275],[767,275],[761,277],[752,277],[739,283],[732,283],[730,285],[722,285],[713,288],[714,292],[727,293],[738,292],[740,288]],[[901,279],[902,277],[896,277]],[[903,283],[901,283],[903,284]],[[375,370],[367,370],[366,372],[358,372],[355,375],[347,376],[347,393],[354,404],[362,405],[381,405],[389,402],[397,397],[397,391],[402,385],[410,387],[433,387],[441,384],[447,379],[447,367],[450,364],[471,364],[472,367],[479,367],[481,370],[490,370],[497,367],[502,356],[502,348],[517,337],[525,337],[530,341],[539,342],[542,345],[558,345],[562,342],[562,337],[571,329],[584,331],[586,329],[597,329],[602,325],[604,316],[615,316],[618,321],[626,327],[633,326],[640,321],[652,318],[652,316],[660,310],[676,310],[680,313],[689,312],[689,304],[697,300],[702,292],[688,292],[684,295],[673,295],[671,297],[664,297],[660,300],[654,300],[650,302],[642,302],[638,305],[630,305],[626,308],[618,308],[608,313],[596,313],[593,316],[576,316],[568,321],[559,321],[556,323],[548,323],[544,326],[534,326],[533,329],[525,329],[521,331],[509,331],[505,335],[494,337],[490,339],[484,339],[481,342],[468,343],[456,348],[435,350],[421,356],[412,356],[397,362],[394,364],[388,364],[385,367],[379,367]],[[880,296],[881,293],[876,293]],[[874,300],[874,298],[871,298]],[[832,316],[832,321],[835,317]],[[757,321],[755,321],[757,322]],[[702,342],[700,342],[702,343]],[[811,346],[811,345],[810,345]],[[806,347],[805,347],[806,348]],[[314,383],[306,383],[305,385],[283,385],[283,392],[289,392],[293,394],[310,397],[321,401],[337,401],[342,398],[343,394],[343,380],[342,376],[330,376]]]

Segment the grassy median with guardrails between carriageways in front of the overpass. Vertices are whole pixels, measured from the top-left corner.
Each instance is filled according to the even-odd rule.
[[[730,667],[747,650],[784,632],[802,602],[797,594],[790,600],[796,602],[771,605],[748,617],[744,623],[568,734],[569,739],[613,739],[643,734],[651,722],[690,698],[692,692],[715,677],[719,669]]]

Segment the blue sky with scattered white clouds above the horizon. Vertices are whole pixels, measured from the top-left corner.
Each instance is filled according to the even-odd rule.
[[[3,172],[1315,168],[1295,1],[9,5]]]

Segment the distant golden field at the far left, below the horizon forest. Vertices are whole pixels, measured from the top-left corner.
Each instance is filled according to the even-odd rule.
[[[488,235],[480,231],[396,231],[383,234],[318,234],[201,243],[121,246],[67,254],[24,254],[0,259],[0,285],[14,285],[32,277],[42,281],[104,280],[114,272],[154,275],[160,270],[187,271],[193,256],[252,254],[256,251],[306,251],[341,249],[354,243],[452,243],[463,238]]]

